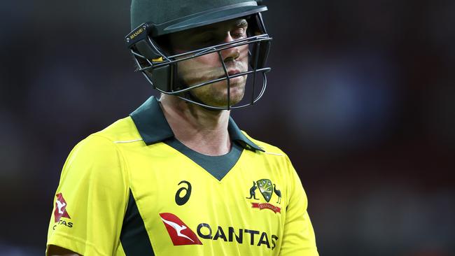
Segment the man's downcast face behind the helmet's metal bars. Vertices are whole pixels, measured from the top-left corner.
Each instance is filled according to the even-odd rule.
[[[228,20],[208,26],[182,31],[170,36],[175,53],[229,43],[246,38],[248,23],[244,19]],[[248,45],[240,45],[221,51],[229,75],[248,71]],[[197,85],[225,76],[218,52],[179,62],[179,77],[188,86]],[[230,78],[230,104],[237,104],[244,97],[246,76]],[[228,106],[228,81],[223,80],[191,90],[204,104]]]

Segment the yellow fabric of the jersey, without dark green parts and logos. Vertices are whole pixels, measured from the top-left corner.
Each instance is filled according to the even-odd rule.
[[[318,255],[307,197],[288,157],[276,147],[251,140],[265,152],[243,150],[237,164],[217,180],[165,143],[146,145],[130,117],[88,136],[64,164],[56,194],[62,193],[69,218],[55,222],[54,208],[48,245],[85,256],[125,255],[120,232],[131,190],[155,255]],[[192,191],[179,206],[175,197],[186,187],[179,185],[182,180]],[[267,203],[259,187],[257,199],[247,199],[258,180],[275,184],[281,202],[272,192]],[[280,212],[253,208],[253,203]],[[160,213],[176,215],[202,245],[174,246]],[[198,235],[202,224],[211,227],[211,239]],[[232,228],[235,235],[230,238]],[[208,235],[209,229],[200,232]],[[240,233],[241,243],[235,239]]]

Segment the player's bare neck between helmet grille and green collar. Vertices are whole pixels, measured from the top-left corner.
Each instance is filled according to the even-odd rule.
[[[188,148],[212,156],[230,151],[230,111],[211,111],[167,94],[162,94],[160,102],[176,139]]]

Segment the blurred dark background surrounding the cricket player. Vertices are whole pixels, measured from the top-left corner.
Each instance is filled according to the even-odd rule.
[[[288,153],[319,252],[455,255],[455,1],[265,1],[269,86],[239,126]],[[130,1],[0,3],[0,255],[43,255],[78,141],[155,93]]]

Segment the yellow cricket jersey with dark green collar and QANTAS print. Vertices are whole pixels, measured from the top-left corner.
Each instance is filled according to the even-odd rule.
[[[288,157],[230,119],[232,150],[174,138],[151,97],[78,143],[63,167],[48,246],[80,255],[318,255]]]

